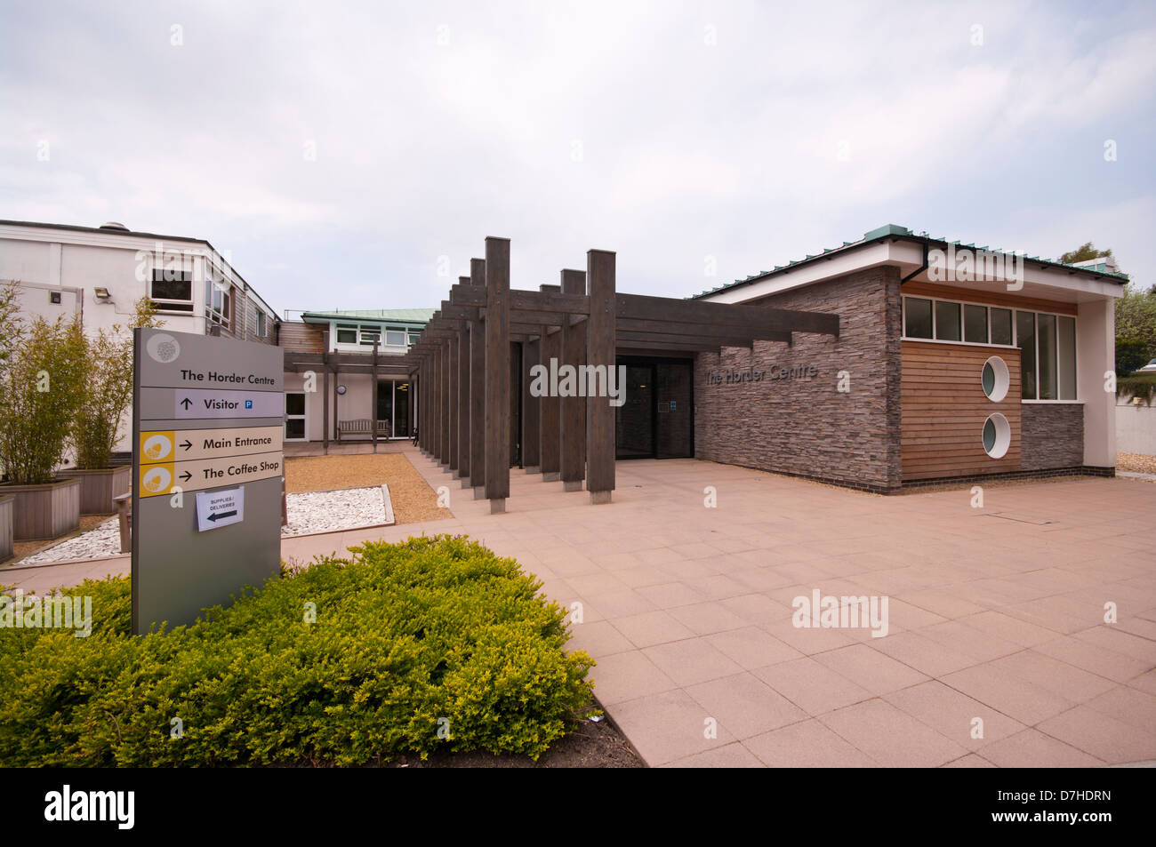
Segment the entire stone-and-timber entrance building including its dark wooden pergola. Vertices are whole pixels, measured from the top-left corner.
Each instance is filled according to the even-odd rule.
[[[606,251],[560,285],[514,290],[509,239],[486,251],[406,364],[420,445],[492,511],[510,466],[607,503],[628,459],[694,456],[877,493],[1114,475],[1127,277],[1106,263],[889,224],[672,299],[617,291]],[[555,378],[566,367],[569,387]]]

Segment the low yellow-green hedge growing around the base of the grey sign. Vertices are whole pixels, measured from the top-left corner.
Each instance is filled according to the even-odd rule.
[[[594,663],[564,652],[565,611],[540,588],[467,538],[366,543],[192,626],[133,637],[128,579],[89,580],[66,592],[92,596],[88,638],[0,629],[0,763],[536,759],[592,712]]]

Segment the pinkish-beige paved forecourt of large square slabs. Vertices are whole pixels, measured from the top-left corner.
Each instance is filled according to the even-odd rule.
[[[391,447],[432,486],[450,480]],[[977,510],[968,486],[881,497],[690,459],[620,462],[605,505],[536,474],[510,482],[503,514],[455,492],[446,520],[286,540],[283,555],[451,533],[518,558],[580,617],[570,646],[595,657],[595,694],[653,766],[1156,759],[1156,485],[1000,485]],[[0,581],[116,569],[127,558]],[[888,634],[799,626],[815,589],[887,596]]]

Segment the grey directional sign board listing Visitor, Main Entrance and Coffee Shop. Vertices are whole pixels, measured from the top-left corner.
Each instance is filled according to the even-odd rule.
[[[281,566],[284,351],[135,330],[133,632],[191,624]]]

